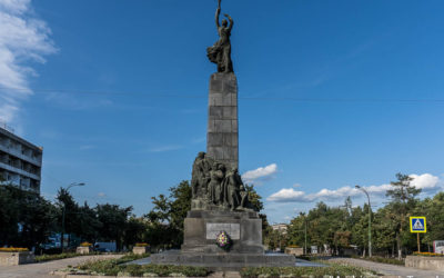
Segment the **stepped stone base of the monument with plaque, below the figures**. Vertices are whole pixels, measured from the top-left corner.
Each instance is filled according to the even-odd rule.
[[[216,245],[215,239],[221,231],[225,231],[232,240],[230,250]],[[295,257],[264,254],[262,219],[258,212],[191,210],[184,221],[181,250],[152,255],[151,262],[239,270],[249,266],[295,266]]]

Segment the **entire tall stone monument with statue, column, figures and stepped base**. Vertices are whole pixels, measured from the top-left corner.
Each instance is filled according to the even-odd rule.
[[[206,49],[218,72],[210,78],[206,153],[199,152],[192,167],[191,210],[184,220],[180,251],[151,256],[152,264],[240,269],[245,266],[294,266],[294,256],[265,255],[262,219],[254,211],[239,175],[238,81],[231,59],[229,14],[220,23],[219,40]]]

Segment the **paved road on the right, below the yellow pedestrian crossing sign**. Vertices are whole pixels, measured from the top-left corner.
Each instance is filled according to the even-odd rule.
[[[443,271],[437,270],[421,270],[416,268],[403,267],[403,266],[395,266],[395,265],[387,265],[387,264],[380,264],[373,262],[367,260],[361,259],[351,259],[351,258],[329,258],[329,261],[333,262],[346,262],[350,265],[367,268],[377,271],[379,274],[386,275],[386,276],[397,276],[397,277],[433,277],[433,278],[444,278]]]

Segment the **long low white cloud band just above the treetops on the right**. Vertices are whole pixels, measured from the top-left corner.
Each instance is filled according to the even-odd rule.
[[[413,178],[411,185],[423,189],[423,191],[433,192],[440,190],[441,181],[440,178],[431,173],[415,175],[412,173],[410,177]],[[376,197],[385,196],[385,192],[392,189],[390,183],[380,186],[369,186],[364,187],[365,190]],[[275,202],[311,202],[316,200],[343,200],[344,198],[351,196],[362,195],[362,191],[354,187],[341,187],[339,189],[322,189],[315,193],[305,193],[304,191],[297,191],[293,188],[283,188],[278,192],[271,195],[266,200]]]

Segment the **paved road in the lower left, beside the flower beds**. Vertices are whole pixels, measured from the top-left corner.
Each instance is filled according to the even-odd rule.
[[[57,278],[58,276],[50,275],[50,272],[68,266],[77,266],[90,259],[110,259],[120,257],[122,257],[122,255],[81,256],[41,264],[0,267],[0,278]]]

